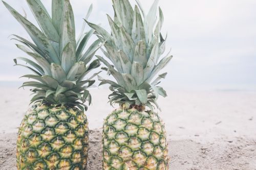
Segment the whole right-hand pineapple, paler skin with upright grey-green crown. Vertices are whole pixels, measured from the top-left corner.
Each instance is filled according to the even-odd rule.
[[[98,76],[101,84],[110,84],[110,103],[119,104],[103,124],[103,169],[168,169],[169,157],[164,124],[154,107],[159,108],[159,95],[166,96],[158,86],[166,73],[154,77],[172,56],[166,55],[165,39],[160,30],[163,14],[158,1],[145,15],[140,2],[133,9],[129,0],[113,0],[114,19],[108,15],[111,34],[88,22],[105,41],[102,52],[111,61],[97,56],[102,67],[117,82]],[[157,17],[158,16],[158,17]],[[143,18],[142,18],[143,17]],[[150,110],[145,110],[149,108]]]

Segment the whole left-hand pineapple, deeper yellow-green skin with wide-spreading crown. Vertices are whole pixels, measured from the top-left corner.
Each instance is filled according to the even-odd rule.
[[[84,169],[88,155],[88,122],[84,115],[91,104],[88,88],[95,82],[88,73],[99,67],[92,57],[101,46],[94,41],[84,52],[95,32],[91,29],[75,39],[74,14],[69,0],[52,0],[52,16],[39,0],[27,0],[40,29],[3,2],[26,29],[33,42],[14,35],[16,46],[30,58],[14,59],[15,65],[33,71],[23,77],[33,79],[22,87],[33,87],[33,106],[18,130],[17,169]],[[92,11],[89,8],[86,19]],[[84,22],[85,24],[85,22]],[[20,64],[17,61],[25,61]]]

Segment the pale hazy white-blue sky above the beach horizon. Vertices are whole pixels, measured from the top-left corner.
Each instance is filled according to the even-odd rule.
[[[36,23],[25,0],[6,0]],[[51,1],[42,1],[51,9]],[[135,5],[134,0],[130,0]],[[71,0],[77,35],[90,4],[89,21],[106,30],[106,13],[113,16],[111,0]],[[153,0],[141,0],[144,10]],[[162,72],[168,75],[162,86],[181,89],[256,89],[256,1],[255,0],[160,0],[164,13],[162,33],[168,33],[166,52],[174,56]],[[28,70],[13,67],[15,57],[24,57],[10,40],[11,34],[28,38],[19,23],[0,4],[0,83],[17,81]],[[100,54],[100,53],[99,53]],[[104,74],[102,75],[105,76]],[[21,81],[19,79],[19,81]]]

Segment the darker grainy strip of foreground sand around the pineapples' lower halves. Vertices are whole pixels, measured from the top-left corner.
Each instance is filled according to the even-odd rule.
[[[0,135],[0,169],[16,169],[16,133]],[[7,144],[8,143],[8,144]],[[256,140],[200,143],[194,140],[170,140],[170,169],[256,169]],[[101,131],[90,131],[87,169],[101,169]]]

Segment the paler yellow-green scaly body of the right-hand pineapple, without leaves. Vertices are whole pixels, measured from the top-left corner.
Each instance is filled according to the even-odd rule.
[[[157,113],[137,109],[114,110],[103,124],[104,170],[168,170],[164,124]]]

